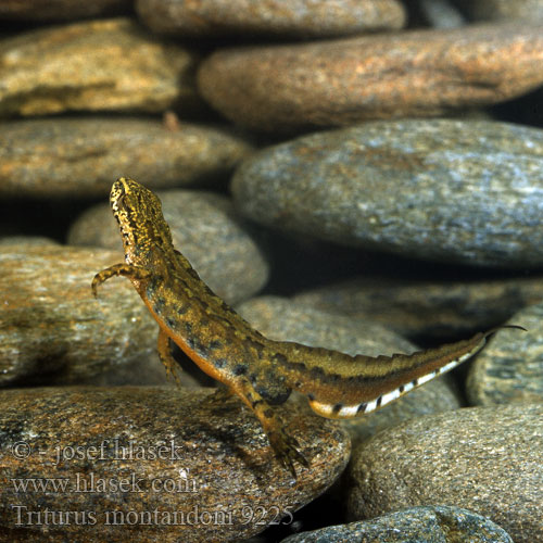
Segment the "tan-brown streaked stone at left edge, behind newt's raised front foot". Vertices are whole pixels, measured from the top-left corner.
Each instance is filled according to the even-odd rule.
[[[127,280],[94,300],[94,274],[116,252],[70,247],[0,251],[0,384],[29,379],[78,382],[147,358],[157,327]]]

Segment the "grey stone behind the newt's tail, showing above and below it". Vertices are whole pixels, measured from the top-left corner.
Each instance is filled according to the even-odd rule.
[[[378,356],[413,353],[413,343],[369,319],[355,319],[316,311],[301,303],[277,296],[261,296],[238,307],[240,314],[266,337],[296,341],[312,346],[333,349],[351,355]],[[305,397],[300,399],[306,403]],[[459,399],[447,381],[440,377],[375,413],[341,420],[353,446],[384,428],[414,417],[453,411]]]

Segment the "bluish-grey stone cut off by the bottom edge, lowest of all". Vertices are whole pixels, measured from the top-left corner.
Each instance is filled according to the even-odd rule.
[[[513,543],[505,530],[467,509],[412,507],[384,517],[291,535],[282,543]]]

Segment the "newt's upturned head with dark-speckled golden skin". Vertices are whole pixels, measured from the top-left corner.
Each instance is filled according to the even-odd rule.
[[[155,247],[173,250],[161,201],[143,185],[128,177],[118,178],[111,188],[110,203],[121,228],[128,264],[137,263],[138,257],[149,254]]]

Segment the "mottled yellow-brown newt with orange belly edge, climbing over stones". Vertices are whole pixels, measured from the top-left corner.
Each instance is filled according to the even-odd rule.
[[[173,341],[253,411],[276,456],[294,478],[294,462],[305,467],[308,463],[275,409],[293,390],[323,417],[367,414],[467,361],[495,331],[409,355],[376,357],[274,341],[217,296],[174,248],[153,192],[122,177],[113,184],[110,203],[125,262],[94,276],[94,296],[98,286],[111,277],[128,278],[159,324],[157,351],[168,374],[178,367]]]

